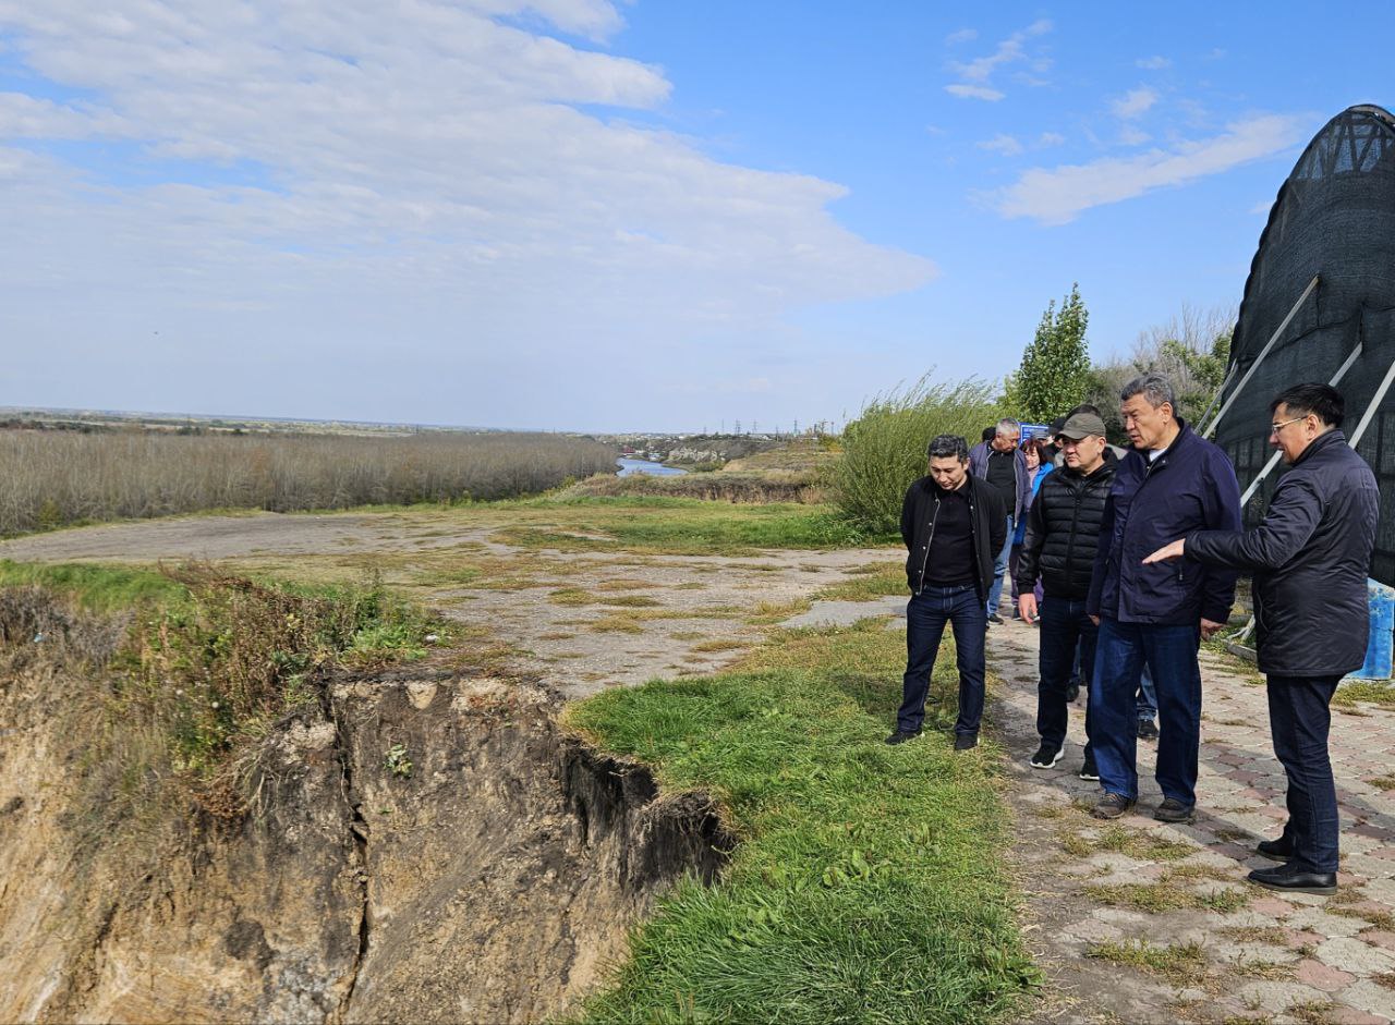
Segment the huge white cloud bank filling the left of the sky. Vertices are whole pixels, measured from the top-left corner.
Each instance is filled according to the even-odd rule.
[[[841,185],[579,109],[674,88],[548,35],[621,24],[604,0],[0,0],[31,73],[88,98],[0,95],[0,337],[29,339],[8,381],[52,390],[59,361],[105,402],[49,404],[398,395],[423,420],[578,424],[643,402],[608,370],[636,346],[700,340],[698,371],[745,375],[797,344],[769,331],[787,311],[935,276],[841,227]],[[135,156],[20,145],[91,138]]]

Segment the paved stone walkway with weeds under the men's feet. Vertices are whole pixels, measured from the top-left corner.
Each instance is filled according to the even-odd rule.
[[[1041,1021],[1387,1022],[1395,1019],[1395,714],[1334,708],[1342,816],[1335,897],[1244,881],[1285,819],[1262,679],[1202,653],[1201,773],[1193,826],[1152,820],[1155,743],[1138,742],[1141,796],[1117,824],[1085,813],[1098,784],[1076,777],[1084,694],[1066,757],[1036,749],[1036,630],[989,632],[1004,681],[993,729],[1007,749],[1028,932],[1050,986]]]

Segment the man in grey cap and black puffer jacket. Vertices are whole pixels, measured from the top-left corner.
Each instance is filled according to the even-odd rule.
[[[1032,582],[1042,580],[1041,654],[1036,685],[1036,732],[1041,747],[1032,768],[1052,768],[1066,745],[1067,689],[1080,646],[1080,664],[1088,683],[1095,665],[1098,628],[1085,615],[1089,576],[1099,547],[1099,524],[1105,499],[1115,480],[1116,460],[1105,443],[1105,421],[1091,413],[1076,413],[1056,432],[1064,464],[1042,478],[1041,489],[1027,513],[1027,533],[1017,562],[1017,605],[1028,623],[1036,618]],[[1085,763],[1081,780],[1098,780],[1089,747],[1089,706],[1085,706]]]

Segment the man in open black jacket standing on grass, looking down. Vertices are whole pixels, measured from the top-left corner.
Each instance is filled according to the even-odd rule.
[[[944,625],[954,626],[960,700],[954,750],[978,746],[983,717],[983,635],[993,562],[1007,538],[1007,510],[997,491],[968,473],[968,443],[942,434],[929,445],[929,476],[905,492],[901,540],[905,541],[905,678],[896,729],[887,743],[921,735],[925,694]]]

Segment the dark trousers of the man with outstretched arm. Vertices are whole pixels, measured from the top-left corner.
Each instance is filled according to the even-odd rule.
[[[1336,676],[1269,675],[1269,732],[1289,777],[1283,835],[1293,844],[1292,863],[1310,872],[1336,872],[1336,785],[1327,756],[1336,683]]]

